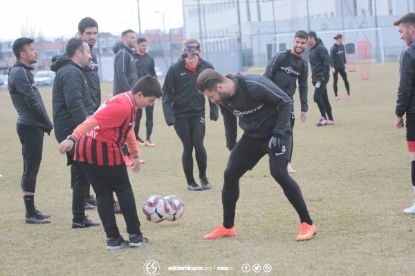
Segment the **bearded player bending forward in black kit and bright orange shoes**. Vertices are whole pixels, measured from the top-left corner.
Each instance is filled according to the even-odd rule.
[[[293,101],[270,79],[259,75],[228,75],[206,69],[196,87],[213,103],[219,103],[225,124],[226,146],[230,152],[222,188],[223,224],[203,237],[217,239],[236,235],[235,208],[239,179],[268,153],[270,173],[293,205],[301,224],[297,241],[313,238],[317,232],[294,179],[288,175],[291,155],[290,116]],[[237,141],[237,118],[244,131]]]

